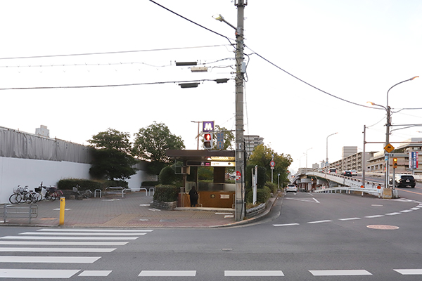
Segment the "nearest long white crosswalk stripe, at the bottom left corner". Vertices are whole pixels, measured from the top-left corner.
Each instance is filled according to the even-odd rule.
[[[0,278],[70,278],[80,270],[0,268]]]

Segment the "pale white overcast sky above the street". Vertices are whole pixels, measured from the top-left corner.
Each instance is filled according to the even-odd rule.
[[[88,145],[108,128],[133,136],[162,122],[191,150],[192,121],[234,130],[235,34],[212,18],[236,26],[234,1],[155,2],[192,22],[148,0],[1,1],[0,126],[44,125],[52,138]],[[384,142],[388,89],[422,77],[421,15],[418,0],[249,0],[245,134],[290,155],[293,172],[327,153],[341,159],[344,146],[361,152],[364,126],[366,141]],[[186,61],[208,72],[176,66]],[[231,80],[210,81],[219,78]],[[197,88],[179,86],[192,80]],[[388,105],[391,142],[422,137],[422,126],[398,126],[422,124],[422,78],[392,88]]]

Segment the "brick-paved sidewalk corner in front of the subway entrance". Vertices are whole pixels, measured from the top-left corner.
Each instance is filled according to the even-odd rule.
[[[271,210],[276,198],[271,198],[267,210],[255,218],[236,221],[233,209],[177,208],[174,211],[154,209],[152,196],[146,192],[128,192],[121,195],[103,196],[84,200],[65,201],[65,221],[60,227],[73,228],[217,228],[250,223],[262,218]],[[60,201],[41,201],[38,217],[7,218],[0,226],[56,227],[59,224]]]

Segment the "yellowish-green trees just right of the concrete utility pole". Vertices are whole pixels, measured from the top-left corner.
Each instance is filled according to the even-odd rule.
[[[274,166],[273,176],[277,180],[277,175],[280,174],[280,183],[286,185],[289,183],[288,181],[288,167],[293,162],[292,157],[290,155],[284,155],[281,153],[274,152],[271,148],[268,148],[265,145],[258,145],[253,151],[252,155],[248,160],[248,165],[257,165],[265,167],[267,170],[267,178],[271,180],[271,169],[269,167],[269,162],[271,162],[272,155],[274,155],[274,162],[276,165]]]

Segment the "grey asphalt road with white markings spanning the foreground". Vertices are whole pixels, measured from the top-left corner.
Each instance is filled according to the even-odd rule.
[[[289,193],[234,228],[0,227],[0,279],[421,280],[422,188],[400,196]]]

